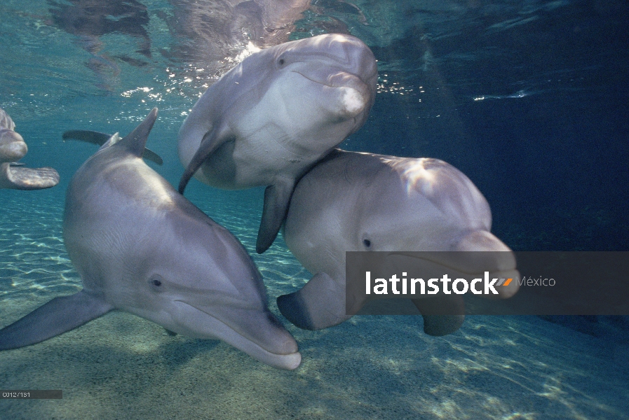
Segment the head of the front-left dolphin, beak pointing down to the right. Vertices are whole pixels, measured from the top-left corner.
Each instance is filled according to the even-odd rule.
[[[107,301],[181,335],[221,339],[263,363],[295,369],[297,342],[267,308],[262,276],[245,249],[211,219],[190,218],[196,208],[180,209],[149,228],[159,238],[144,232],[151,240],[135,252],[144,260],[130,262],[135,273],[107,288]]]

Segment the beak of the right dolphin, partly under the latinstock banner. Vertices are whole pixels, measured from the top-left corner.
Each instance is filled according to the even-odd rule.
[[[405,264],[403,267],[417,266],[418,272],[425,278],[437,278],[447,274],[451,279],[474,279],[484,276],[485,272],[489,272],[492,279],[515,279],[520,276],[513,251],[486,230],[469,232],[454,244],[452,251],[421,254],[392,252],[389,258],[392,259],[391,264]],[[506,299],[515,295],[519,288],[518,281],[510,281],[508,286],[496,287],[497,296],[483,297]]]

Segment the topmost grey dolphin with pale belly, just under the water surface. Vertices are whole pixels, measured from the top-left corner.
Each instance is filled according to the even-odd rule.
[[[328,34],[243,59],[201,96],[179,132],[186,170],[216,188],[267,186],[256,251],[276,238],[295,183],[363,126],[377,66],[358,38]]]

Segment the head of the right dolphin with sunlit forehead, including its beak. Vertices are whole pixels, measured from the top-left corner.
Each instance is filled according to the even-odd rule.
[[[446,269],[461,276],[484,271],[518,276],[513,252],[490,232],[487,200],[467,176],[437,159],[379,159],[399,179],[398,188],[380,186],[381,194],[364,212],[358,250],[391,251],[394,260],[416,258],[404,251],[431,251],[413,265],[434,269],[435,275]],[[517,290],[512,282],[499,294],[506,298]]]

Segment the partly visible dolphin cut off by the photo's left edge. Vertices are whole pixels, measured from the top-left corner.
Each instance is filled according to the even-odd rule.
[[[27,168],[18,164],[27,152],[24,139],[15,132],[15,123],[0,108],[0,188],[43,190],[59,183],[59,174],[53,168]]]

